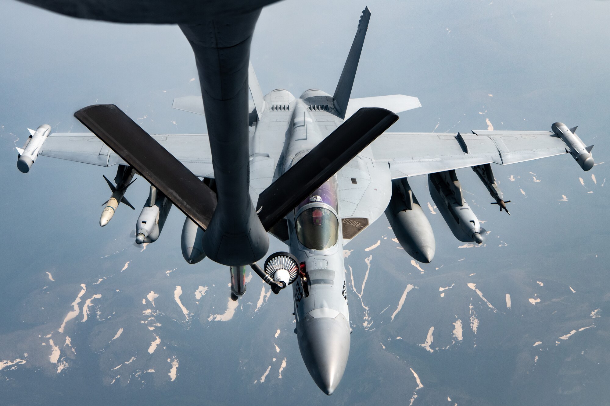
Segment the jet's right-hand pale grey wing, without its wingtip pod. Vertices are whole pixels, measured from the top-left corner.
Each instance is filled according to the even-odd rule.
[[[462,133],[386,132],[371,144],[375,162],[388,162],[392,179],[467,166],[508,165],[569,152],[550,131]]]

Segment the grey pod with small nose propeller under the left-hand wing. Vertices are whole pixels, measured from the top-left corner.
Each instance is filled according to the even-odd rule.
[[[165,219],[170,213],[171,201],[151,185],[148,201],[142,208],[142,213],[135,224],[135,243],[152,243],[157,241]]]

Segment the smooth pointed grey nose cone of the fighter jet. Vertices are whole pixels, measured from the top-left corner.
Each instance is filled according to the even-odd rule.
[[[347,320],[343,315],[334,319],[307,316],[298,337],[307,371],[324,393],[332,394],[341,382],[350,354]]]

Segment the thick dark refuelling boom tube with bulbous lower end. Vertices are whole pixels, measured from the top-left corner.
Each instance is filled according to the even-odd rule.
[[[242,266],[262,258],[269,238],[249,194],[248,65],[260,9],[209,15],[180,28],[193,48],[206,112],[217,206],[203,249],[213,261]]]

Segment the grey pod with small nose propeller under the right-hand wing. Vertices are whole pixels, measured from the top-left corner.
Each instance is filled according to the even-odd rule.
[[[479,219],[464,200],[456,171],[428,174],[428,185],[430,196],[453,235],[465,243],[482,244],[486,230],[481,228]]]

